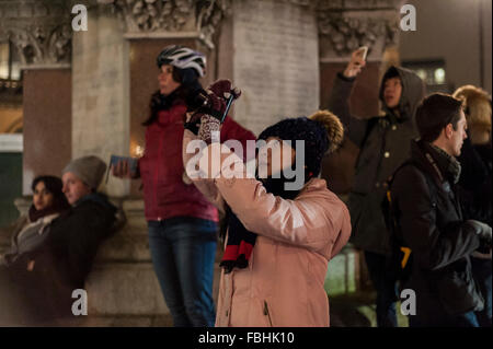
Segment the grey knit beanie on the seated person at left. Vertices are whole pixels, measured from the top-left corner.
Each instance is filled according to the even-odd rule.
[[[70,161],[61,174],[64,175],[67,172],[77,175],[92,189],[98,189],[106,172],[106,164],[98,156],[82,156]]]

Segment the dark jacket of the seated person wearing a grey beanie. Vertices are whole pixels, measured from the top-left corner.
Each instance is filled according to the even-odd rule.
[[[51,222],[39,249],[1,270],[10,275],[11,290],[23,292],[22,302],[34,310],[28,310],[34,321],[71,315],[71,293],[84,288],[99,246],[115,231],[116,212],[101,194],[83,197]],[[35,261],[32,271],[30,260]]]

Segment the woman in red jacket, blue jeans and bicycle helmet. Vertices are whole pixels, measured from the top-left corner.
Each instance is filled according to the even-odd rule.
[[[183,123],[187,105],[202,90],[206,59],[186,47],[169,46],[158,56],[157,91],[144,123],[146,150],[136,177],[144,184],[145,213],[154,271],[174,326],[214,326],[214,260],[217,209],[186,177],[182,162]],[[245,148],[255,136],[227,117],[221,141]],[[113,174],[129,177],[127,164]]]

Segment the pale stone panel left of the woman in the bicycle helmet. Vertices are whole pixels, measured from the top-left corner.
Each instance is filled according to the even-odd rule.
[[[88,3],[88,31],[73,35],[72,156],[129,154],[129,45],[108,9]],[[128,181],[104,183],[112,197],[128,194]]]

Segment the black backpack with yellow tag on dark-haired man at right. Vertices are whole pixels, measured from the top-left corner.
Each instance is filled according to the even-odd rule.
[[[390,242],[390,257],[387,260],[387,272],[390,272],[394,280],[399,281],[400,289],[403,288],[404,283],[409,280],[412,272],[412,258],[413,254],[409,245],[405,243],[402,232],[399,226],[397,208],[392,202],[392,191],[391,186],[395,174],[404,166],[412,165],[420,170],[426,178],[426,183],[429,188],[429,195],[433,202],[436,202],[436,187],[432,184],[432,178],[429,175],[421,170],[419,163],[410,159],[402,163],[393,174],[387,179],[388,189],[383,201],[381,202],[381,209],[383,219],[387,225],[387,231],[389,232]]]

